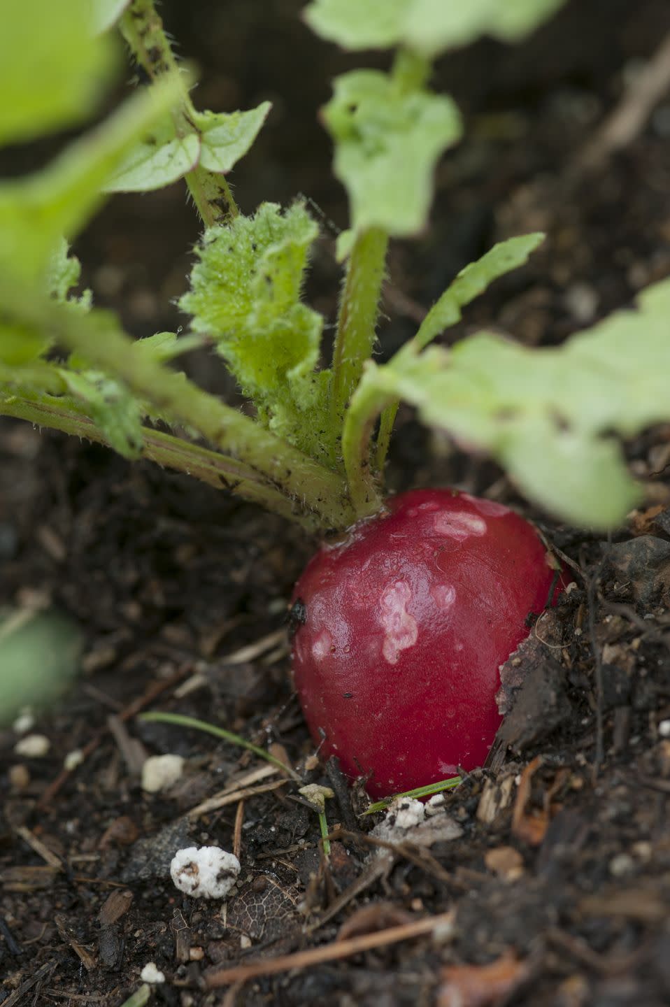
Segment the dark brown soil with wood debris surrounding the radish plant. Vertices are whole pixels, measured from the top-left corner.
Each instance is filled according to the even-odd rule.
[[[247,211],[303,192],[334,222],[310,285],[331,314],[330,229],[346,205],[315,111],[329,78],[364,60],[315,40],[300,6],[274,0],[261,17],[246,0],[173,2],[163,16],[198,62],[204,107],[274,101],[236,191]],[[665,0],[574,0],[518,48],[486,41],[440,63],[466,139],[440,165],[430,229],[392,252],[382,354],[509,234],[549,240],[449,339],[489,325],[558,343],[670,273],[670,99],[624,149],[575,169],[669,30]],[[171,300],[196,235],[174,186],[112,200],[77,251],[98,302],[143,335],[181,323]],[[233,394],[209,357],[189,369]],[[361,794],[310,758],[291,693],[286,603],[314,543],[185,477],[0,424],[0,602],[51,604],[86,638],[78,685],[35,727],[48,754],[19,756],[16,733],[0,733],[0,1003],[120,1007],[149,962],[165,977],[153,1001],[175,1007],[669,1003],[669,443],[662,428],[629,445],[645,501],[601,539],[534,514],[494,465],[401,415],[393,488],[452,484],[510,502],[575,586],[507,670],[523,686],[489,767],[447,794],[428,845],[410,830],[390,849],[370,832],[382,816],[360,817]],[[296,784],[219,739],[137,719],[148,709],[273,745],[305,782],[332,786],[329,858]],[[63,776],[74,750],[85,757]],[[168,752],[184,777],[143,793],[144,756]],[[221,792],[234,797],[193,811]],[[167,874],[176,848],[208,843],[240,855],[224,904],[180,894]],[[216,970],[308,951],[207,988]]]

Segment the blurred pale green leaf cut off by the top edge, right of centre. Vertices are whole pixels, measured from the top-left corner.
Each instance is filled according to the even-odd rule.
[[[305,20],[348,49],[405,45],[432,58],[488,34],[513,42],[565,0],[312,0]]]

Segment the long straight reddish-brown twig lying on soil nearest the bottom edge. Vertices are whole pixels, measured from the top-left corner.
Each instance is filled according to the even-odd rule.
[[[373,948],[384,948],[391,944],[398,944],[400,941],[410,941],[412,938],[431,933],[440,926],[450,925],[453,922],[453,916],[452,911],[442,912],[437,916],[427,916],[412,923],[403,923],[401,926],[390,926],[377,933],[364,933],[347,941],[336,941],[322,948],[299,951],[295,955],[281,955],[279,958],[271,958],[264,962],[252,962],[250,965],[221,969],[206,976],[205,985],[212,990],[220,986],[228,986],[230,983],[256,979],[258,976],[272,976],[289,969],[306,969],[311,965],[320,965],[323,962],[337,962]]]

